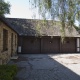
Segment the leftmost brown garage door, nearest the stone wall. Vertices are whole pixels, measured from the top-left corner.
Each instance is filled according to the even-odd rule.
[[[40,39],[35,37],[23,38],[22,53],[40,53]]]

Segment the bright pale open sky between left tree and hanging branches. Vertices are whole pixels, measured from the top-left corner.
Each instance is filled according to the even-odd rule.
[[[5,2],[9,2],[11,5],[10,14],[5,15],[6,17],[26,19],[39,18],[38,11],[31,8],[29,0],[5,0]]]

